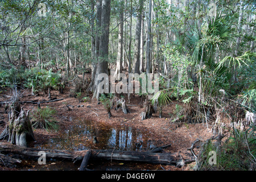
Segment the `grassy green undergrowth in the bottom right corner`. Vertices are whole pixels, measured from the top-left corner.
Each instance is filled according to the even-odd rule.
[[[234,137],[229,137],[220,150],[215,144],[206,143],[202,154],[201,170],[247,171],[256,158],[256,126],[250,125],[245,131],[236,130]],[[209,164],[209,152],[216,151],[217,164]]]

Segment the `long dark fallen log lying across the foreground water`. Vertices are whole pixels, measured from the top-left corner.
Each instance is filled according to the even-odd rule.
[[[13,144],[0,144],[0,152],[3,154],[19,154],[28,158],[38,159],[39,151],[46,152],[46,159],[69,159],[75,161],[81,161],[81,155],[84,156],[84,151],[66,151],[66,150],[47,150],[38,148],[28,148],[21,146],[14,146]],[[191,156],[190,152],[187,152],[188,159],[184,159],[184,163],[195,162],[194,156]],[[118,150],[91,150],[91,160],[127,160],[134,162],[146,162],[153,164],[166,164],[176,165],[180,162],[179,153],[153,153],[143,151],[118,151]],[[87,159],[86,159],[87,160]]]

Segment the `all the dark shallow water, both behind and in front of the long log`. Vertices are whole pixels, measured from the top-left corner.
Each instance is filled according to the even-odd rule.
[[[70,118],[72,120],[72,118]],[[96,142],[97,140],[97,142]],[[155,147],[155,141],[150,139],[146,131],[134,127],[120,125],[111,126],[105,123],[97,123],[88,120],[72,121],[72,125],[57,131],[56,137],[49,139],[43,144],[36,144],[39,149],[56,150],[87,150],[113,149],[141,151],[150,150]],[[20,164],[22,170],[40,171],[76,171],[80,163],[73,164],[72,161],[47,160],[46,164],[38,164],[36,161],[24,160]],[[159,165],[120,161],[89,161],[89,169],[120,171],[120,170],[161,170]]]

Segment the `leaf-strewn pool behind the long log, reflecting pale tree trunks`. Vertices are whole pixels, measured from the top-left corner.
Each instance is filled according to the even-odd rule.
[[[98,143],[93,144],[93,137]],[[48,147],[65,150],[86,150],[86,147],[114,150],[141,150],[148,147],[135,147],[135,142],[147,141],[146,135],[130,126],[113,127],[92,121],[79,121],[64,131],[60,131],[56,138],[49,140]]]

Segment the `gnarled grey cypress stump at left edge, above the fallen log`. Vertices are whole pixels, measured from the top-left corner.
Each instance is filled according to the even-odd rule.
[[[29,111],[25,113],[20,107],[19,99],[14,98],[10,106],[9,125],[1,136],[7,137],[8,142],[17,146],[27,147],[27,140],[35,140],[29,119]]]

